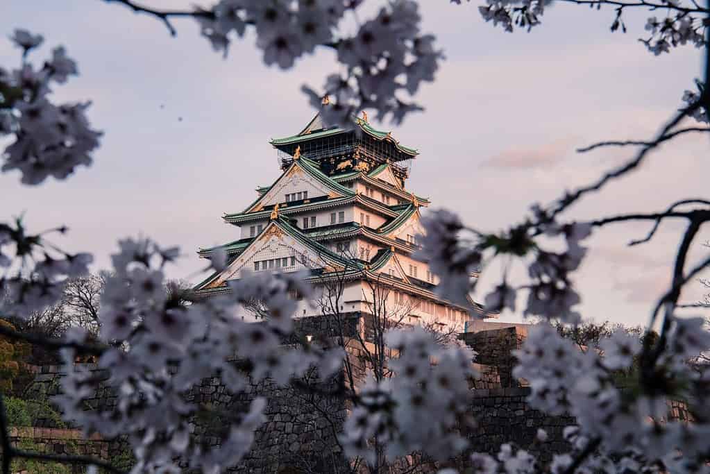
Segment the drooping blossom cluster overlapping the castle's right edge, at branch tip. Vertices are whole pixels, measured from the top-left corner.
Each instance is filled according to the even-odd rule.
[[[580,299],[569,274],[579,268],[584,258],[586,248],[581,246],[580,241],[589,236],[591,226],[585,223],[558,224],[540,206],[532,206],[532,213],[532,219],[510,228],[506,233],[476,233],[476,238],[471,239],[465,236],[466,229],[452,212],[430,212],[422,219],[425,235],[420,236],[423,246],[420,256],[439,275],[439,294],[454,302],[470,302],[469,292],[476,285],[473,272],[479,270],[486,255],[491,255],[491,258],[499,255],[528,258],[525,265],[530,282],[522,287],[528,290],[525,314],[559,318],[567,322],[579,321],[579,314],[573,307]],[[534,241],[538,234],[563,238],[567,250],[559,253],[543,249]],[[504,278],[486,295],[486,309],[491,312],[500,312],[505,308],[514,311],[517,292],[518,289],[510,286]]]

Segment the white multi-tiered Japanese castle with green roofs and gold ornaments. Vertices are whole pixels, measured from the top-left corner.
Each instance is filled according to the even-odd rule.
[[[223,249],[228,260],[195,287],[197,296],[229,292],[229,280],[252,272],[307,270],[316,298],[339,294],[335,305],[300,302],[297,317],[327,316],[325,307],[337,307],[340,314],[381,312],[406,325],[464,331],[467,321],[488,316],[473,301],[465,307],[438,297],[437,275],[414,256],[430,205],[407,188],[415,148],[373,128],[364,113],[349,128],[327,126],[317,114],[300,132],[270,143],[280,175],[257,187],[243,210],[222,216],[239,228],[239,239],[198,250],[209,258]]]

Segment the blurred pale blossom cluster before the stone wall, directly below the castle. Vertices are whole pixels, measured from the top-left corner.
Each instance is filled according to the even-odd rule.
[[[386,343],[398,353],[388,363],[395,376],[361,389],[341,436],[346,454],[374,464],[376,441],[390,461],[413,451],[457,456],[467,445],[456,430],[468,418],[473,351],[441,346],[420,327],[392,329]]]

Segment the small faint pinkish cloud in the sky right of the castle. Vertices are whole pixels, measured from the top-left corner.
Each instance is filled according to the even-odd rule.
[[[562,138],[535,148],[516,145],[493,155],[481,165],[506,170],[549,169],[564,161],[578,141],[577,138]]]

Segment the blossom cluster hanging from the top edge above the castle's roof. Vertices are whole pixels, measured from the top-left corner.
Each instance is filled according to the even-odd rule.
[[[433,35],[420,33],[422,18],[413,0],[388,2],[374,18],[359,24],[354,35],[344,33],[345,13],[352,11],[357,18],[362,3],[221,0],[211,9],[197,10],[195,18],[214,50],[225,55],[231,40],[253,27],[264,62],[281,69],[293,67],[317,46],[334,48],[346,73],[329,76],[320,92],[303,87],[316,108],[324,96],[329,97],[331,106],[322,111],[324,121],[347,124],[353,114],[372,108],[378,118],[390,115],[399,123],[421,108],[398,98],[398,93],[413,95],[422,82],[432,82],[442,53],[435,48]]]

